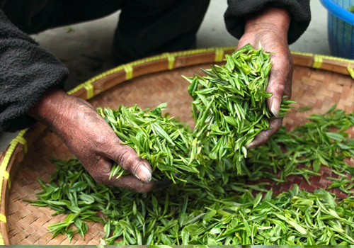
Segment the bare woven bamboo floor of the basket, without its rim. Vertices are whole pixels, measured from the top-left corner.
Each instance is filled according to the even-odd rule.
[[[160,103],[167,102],[171,116],[193,125],[191,117],[191,101],[188,95],[188,82],[181,75],[193,76],[200,74],[200,67],[210,67],[208,64],[199,64],[192,67],[173,69],[171,71],[148,74],[142,77],[133,77],[128,82],[113,86],[89,101],[94,107],[117,108],[119,104],[132,106],[135,103],[140,108],[154,108]],[[134,75],[134,72],[133,72]],[[114,80],[114,79],[113,79]],[[297,101],[295,110],[284,120],[288,130],[302,125],[306,117],[312,113],[324,113],[334,103],[346,112],[354,111],[354,80],[350,76],[328,72],[321,69],[295,66],[292,99]],[[312,110],[296,112],[297,108],[311,106]],[[37,124],[34,128],[44,129]],[[351,130],[353,137],[354,130]],[[49,162],[51,157],[69,159],[72,157],[67,147],[50,130],[46,130],[32,140],[23,161],[18,165],[18,171],[12,181],[8,196],[8,238],[10,244],[99,244],[103,237],[103,226],[98,223],[88,222],[89,232],[85,240],[79,235],[74,235],[69,243],[66,235],[58,235],[52,239],[48,234],[48,225],[65,219],[64,215],[52,216],[55,213],[50,208],[38,208],[23,202],[23,199],[34,200],[35,193],[40,191],[36,178],[48,181],[55,172],[55,167]],[[350,162],[353,164],[353,161]],[[310,178],[309,186],[301,177],[293,176],[286,184],[271,185],[273,191],[286,191],[292,184],[299,184],[300,188],[313,191],[315,188],[326,188],[329,181],[326,177],[336,177],[329,168],[322,168],[321,177]],[[334,191],[338,196],[343,196],[340,191]]]

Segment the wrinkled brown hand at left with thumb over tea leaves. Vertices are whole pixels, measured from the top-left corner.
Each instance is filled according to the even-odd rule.
[[[132,147],[120,144],[110,125],[86,101],[50,89],[28,114],[51,128],[98,183],[140,193],[156,188],[150,182],[149,162],[137,157]],[[114,162],[131,175],[109,179]]]

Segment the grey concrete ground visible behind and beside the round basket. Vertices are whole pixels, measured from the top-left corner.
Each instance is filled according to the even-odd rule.
[[[223,47],[237,44],[224,26],[227,1],[211,0],[198,31],[197,47]],[[330,55],[327,38],[327,11],[318,0],[311,1],[312,22],[290,50]],[[110,62],[113,33],[119,11],[106,18],[69,27],[55,28],[33,35],[42,47],[50,50],[69,68],[67,90],[114,67]],[[16,137],[16,133],[0,133],[0,152]]]

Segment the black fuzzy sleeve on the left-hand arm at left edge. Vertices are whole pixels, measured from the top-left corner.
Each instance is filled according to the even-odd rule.
[[[47,89],[64,87],[67,68],[0,10],[0,131],[28,128],[27,115]]]

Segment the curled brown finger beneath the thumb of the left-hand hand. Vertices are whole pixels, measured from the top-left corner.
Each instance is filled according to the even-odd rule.
[[[150,181],[149,183],[145,183],[133,175],[120,176],[118,179],[115,176],[110,178],[112,166],[113,161],[102,158],[98,160],[95,168],[89,167],[88,171],[98,184],[115,186],[139,193],[147,193],[155,188],[159,188],[159,185],[155,182]]]

